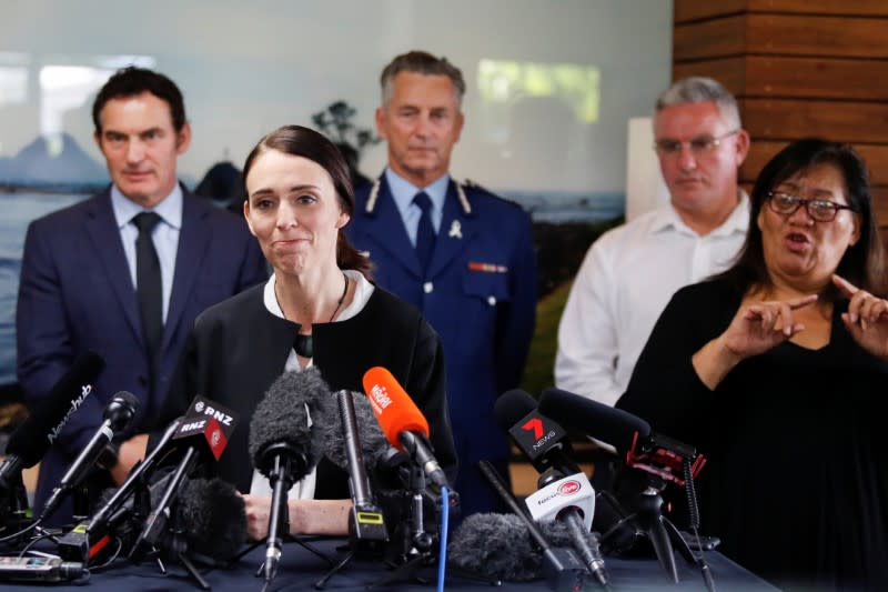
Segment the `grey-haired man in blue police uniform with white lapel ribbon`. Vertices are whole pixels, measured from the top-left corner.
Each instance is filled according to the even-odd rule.
[[[412,51],[383,70],[381,83],[376,128],[389,167],[355,191],[345,231],[369,251],[379,284],[418,308],[441,335],[460,456],[455,488],[464,514],[492,511],[500,503],[477,462],[508,475],[493,410],[500,393],[517,387],[534,331],[531,221],[518,205],[447,172],[463,128],[457,68]]]

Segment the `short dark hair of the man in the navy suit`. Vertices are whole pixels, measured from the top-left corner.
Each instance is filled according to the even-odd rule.
[[[150,92],[170,106],[170,114],[173,119],[173,128],[176,132],[182,131],[182,127],[188,121],[185,119],[185,102],[182,99],[182,91],[175,82],[153,70],[130,66],[121,68],[99,90],[95,100],[92,102],[92,122],[95,131],[102,131],[100,116],[105,103],[111,99],[124,99],[135,97],[143,92]]]

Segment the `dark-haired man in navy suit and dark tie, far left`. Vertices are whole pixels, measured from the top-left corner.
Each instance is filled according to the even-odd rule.
[[[144,432],[195,317],[268,277],[246,224],[178,182],[191,127],[174,82],[120,70],[99,91],[93,121],[111,187],[33,221],[24,239],[16,328],[28,405],[41,404],[78,354],[93,350],[107,362],[94,394],[41,463],[38,510],[101,424],[108,401],[125,390],[139,409],[125,438],[100,459],[105,479],[92,480],[122,482],[144,454]],[[70,508],[54,522],[67,518]]]

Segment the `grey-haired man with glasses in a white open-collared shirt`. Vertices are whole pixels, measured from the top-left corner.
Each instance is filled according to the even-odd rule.
[[[608,405],[675,291],[727,269],[749,224],[737,187],[749,134],[727,90],[708,78],[675,82],[657,100],[654,138],[669,203],[592,245],[558,327],[555,383]]]

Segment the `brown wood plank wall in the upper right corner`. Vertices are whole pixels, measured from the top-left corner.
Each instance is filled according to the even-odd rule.
[[[753,137],[744,185],[788,141],[849,142],[888,239],[888,0],[674,2],[673,80],[708,76],[737,97]]]

